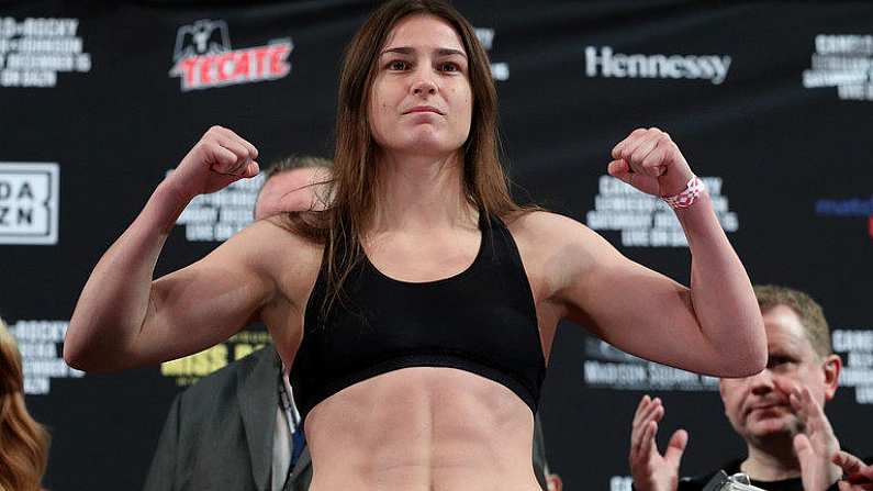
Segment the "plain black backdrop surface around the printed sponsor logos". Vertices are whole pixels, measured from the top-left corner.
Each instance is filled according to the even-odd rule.
[[[210,125],[255,143],[262,165],[289,154],[331,156],[343,51],[372,4],[0,2],[0,21],[78,19],[77,35],[92,60],[89,72],[58,74],[54,88],[0,87],[0,161],[60,166],[59,241],[0,246],[2,272],[11,279],[0,284],[0,315],[10,324],[68,320],[93,264]],[[698,175],[723,179],[723,196],[739,219],[729,237],[754,282],[809,292],[832,328],[873,328],[870,219],[815,212],[817,200],[873,192],[866,136],[873,101],[840,100],[836,88],[802,83],[817,35],[873,34],[869,2],[456,4],[477,27],[494,30],[490,56],[510,68],[496,86],[506,164],[521,199],[584,222],[612,147],[635,127],[662,127]],[[176,35],[201,19],[226,22],[233,49],[291,38],[291,72],[183,92],[169,76]],[[731,64],[718,85],[591,77],[586,46],[730,56]],[[624,247],[619,232],[602,233],[630,258],[687,282],[686,248]],[[189,242],[178,226],[158,272],[216,245]],[[589,339],[584,326],[560,327],[541,408],[549,464],[566,489],[608,489],[613,477],[628,473],[629,423],[647,392],[668,409],[662,445],[678,427],[691,434],[683,473],[741,455],[717,391],[593,387],[583,368]],[[29,395],[53,434],[46,487],[138,489],[182,387],[150,367],[53,378],[49,393]],[[828,412],[844,446],[873,451],[859,431],[873,415],[871,405],[859,404],[853,388],[841,389]]]

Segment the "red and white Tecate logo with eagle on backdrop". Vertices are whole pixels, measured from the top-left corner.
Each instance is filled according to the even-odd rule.
[[[170,77],[181,78],[182,91],[276,80],[291,72],[293,48],[282,38],[232,49],[226,22],[200,20],[177,32]]]

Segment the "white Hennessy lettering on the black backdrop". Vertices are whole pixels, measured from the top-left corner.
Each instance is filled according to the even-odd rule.
[[[603,78],[653,78],[725,81],[726,55],[643,55],[615,53],[612,46],[585,46],[585,75]]]

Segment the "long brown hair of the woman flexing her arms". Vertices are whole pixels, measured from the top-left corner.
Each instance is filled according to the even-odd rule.
[[[511,194],[500,161],[497,93],[491,65],[470,23],[443,0],[390,0],[379,7],[346,48],[337,98],[336,147],[332,202],[323,213],[306,214],[294,228],[325,244],[328,311],[354,265],[362,255],[360,237],[372,225],[381,202],[376,164],[377,144],[370,131],[368,108],[377,75],[379,53],[392,27],[403,18],[435,15],[460,37],[469,59],[473,108],[470,134],[463,144],[461,186],[463,196],[483,219],[506,217],[522,211]]]

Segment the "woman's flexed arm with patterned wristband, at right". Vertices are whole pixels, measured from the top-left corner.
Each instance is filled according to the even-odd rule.
[[[766,337],[751,282],[712,202],[670,136],[637,130],[613,149],[609,174],[642,192],[678,197],[673,208],[691,249],[691,284],[628,260],[603,237],[555,220],[567,316],[636,355],[720,377],[757,373]],[[668,200],[670,201],[670,200]]]

